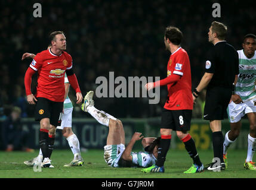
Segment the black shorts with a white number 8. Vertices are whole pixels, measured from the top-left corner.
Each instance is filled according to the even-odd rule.
[[[174,131],[189,131],[192,110],[162,110],[161,128]]]

